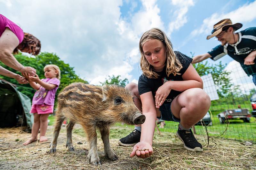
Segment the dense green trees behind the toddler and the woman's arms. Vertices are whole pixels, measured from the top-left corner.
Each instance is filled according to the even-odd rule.
[[[57,90],[56,96],[59,94],[59,92],[73,82],[83,82],[88,84],[87,81],[81,79],[78,75],[76,75],[74,71],[74,67],[69,66],[69,64],[64,63],[56,54],[48,53],[48,52],[42,52],[39,55],[35,57],[28,57],[25,55],[22,55],[22,53],[16,54],[15,58],[24,66],[31,66],[36,69],[36,73],[38,74],[40,79],[45,78],[44,77],[44,66],[48,64],[55,64],[60,67],[60,87]],[[3,63],[0,63],[1,66],[6,68],[7,70],[10,70],[14,73],[20,74],[20,72],[17,72],[16,70],[4,65]],[[36,90],[32,89],[29,84],[19,84],[15,79],[12,79],[10,77],[5,77],[0,75],[0,78],[9,81],[13,84],[17,84],[21,87],[17,87],[17,89],[30,97],[31,99],[34,96],[34,93]]]

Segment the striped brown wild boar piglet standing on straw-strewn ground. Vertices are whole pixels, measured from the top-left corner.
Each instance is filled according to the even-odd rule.
[[[100,87],[84,83],[72,83],[60,92],[55,117],[50,152],[56,152],[62,122],[68,118],[66,143],[68,151],[74,151],[72,129],[75,123],[79,123],[87,134],[90,147],[87,158],[92,165],[101,164],[97,149],[96,128],[100,130],[105,155],[111,160],[117,160],[109,144],[110,126],[117,121],[138,125],[144,123],[146,119],[133,103],[131,92],[124,87],[115,85]]]

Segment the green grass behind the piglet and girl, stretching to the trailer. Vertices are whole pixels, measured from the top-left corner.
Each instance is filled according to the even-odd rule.
[[[208,134],[210,136],[219,136],[221,135],[226,127],[227,124],[220,124],[219,119],[216,114],[212,114],[212,126],[207,126]],[[54,124],[54,116],[51,115],[48,117],[50,120],[49,125]],[[166,125],[164,128],[159,128],[160,131],[164,132],[172,132],[176,133],[178,129],[177,122],[172,121],[165,121]],[[116,127],[125,127],[124,128],[116,128]],[[115,129],[115,133],[110,134],[110,138],[122,138],[124,137],[123,134],[127,132],[127,129],[131,132],[134,127],[133,126],[127,126],[122,125],[121,123],[116,123],[116,126],[112,127],[112,129]],[[205,135],[205,128],[196,125],[196,134]],[[81,136],[85,136],[84,131],[82,129],[74,129],[73,133],[79,134]],[[228,139],[236,139],[236,140],[247,140],[247,141],[256,141],[256,121],[255,118],[251,117],[250,123],[244,123],[243,120],[230,120],[230,123],[228,125],[228,129],[225,134],[223,134],[221,137],[228,138]]]

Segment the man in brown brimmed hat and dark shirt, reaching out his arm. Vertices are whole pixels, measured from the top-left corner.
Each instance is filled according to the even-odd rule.
[[[207,58],[216,61],[228,54],[240,63],[248,76],[252,75],[252,81],[256,85],[256,27],[250,27],[235,33],[242,26],[241,23],[232,24],[230,19],[223,19],[215,24],[212,34],[208,35],[206,39],[208,40],[215,36],[221,42],[221,45],[216,46],[205,54],[195,56],[192,64]]]

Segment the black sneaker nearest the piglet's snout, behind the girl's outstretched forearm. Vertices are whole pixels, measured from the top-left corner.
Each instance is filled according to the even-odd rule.
[[[138,142],[140,142],[140,131],[134,129],[132,133],[119,139],[118,144],[120,146],[134,146]]]

